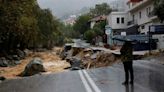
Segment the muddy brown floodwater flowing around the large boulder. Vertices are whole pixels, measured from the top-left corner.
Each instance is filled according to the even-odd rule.
[[[31,52],[21,61],[19,65],[13,67],[0,67],[0,76],[4,76],[7,79],[19,78],[19,74],[24,70],[25,66],[35,57],[39,57],[43,60],[43,65],[47,73],[57,73],[66,71],[64,68],[70,66],[65,60],[61,60],[56,54],[61,48],[54,48],[51,51],[44,52]]]

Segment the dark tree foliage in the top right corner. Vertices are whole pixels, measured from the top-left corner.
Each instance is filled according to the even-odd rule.
[[[154,12],[161,20],[164,21],[164,0],[154,0]]]

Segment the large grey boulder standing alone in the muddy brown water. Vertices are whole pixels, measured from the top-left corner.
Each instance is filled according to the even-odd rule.
[[[34,58],[27,64],[25,70],[20,74],[20,76],[32,76],[41,72],[45,72],[42,60],[40,58]]]

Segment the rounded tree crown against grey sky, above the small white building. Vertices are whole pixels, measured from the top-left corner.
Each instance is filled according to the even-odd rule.
[[[102,4],[97,4],[95,8],[90,9],[90,15],[95,17],[95,16],[100,16],[100,15],[108,15],[112,9],[107,3],[102,3]]]

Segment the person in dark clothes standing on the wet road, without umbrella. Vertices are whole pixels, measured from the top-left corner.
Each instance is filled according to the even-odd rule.
[[[129,75],[130,75],[130,84],[133,84],[134,75],[133,75],[133,46],[131,41],[125,41],[121,50],[121,60],[124,65],[125,71],[125,82],[122,84],[127,85],[129,83]]]

